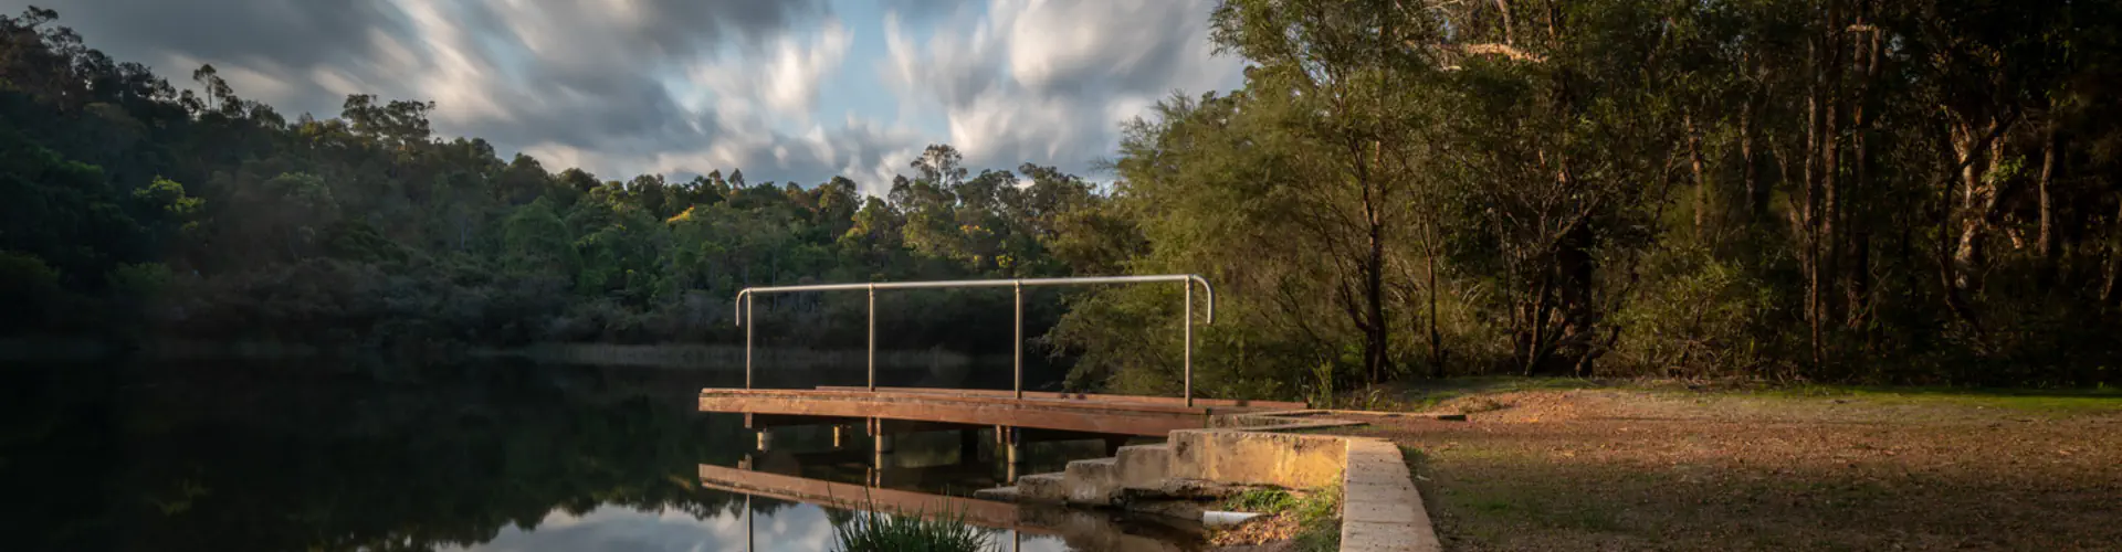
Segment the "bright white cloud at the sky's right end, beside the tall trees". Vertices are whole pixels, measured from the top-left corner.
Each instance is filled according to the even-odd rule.
[[[938,104],[972,166],[1108,157],[1118,123],[1184,89],[1229,89],[1241,62],[1214,57],[1210,0],[995,0],[970,34],[925,45],[887,17],[887,83]]]

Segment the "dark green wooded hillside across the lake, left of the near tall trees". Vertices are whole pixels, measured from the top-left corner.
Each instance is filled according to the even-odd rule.
[[[1078,270],[1069,259],[1118,270],[1127,257],[1095,240],[1131,223],[1055,168],[974,176],[938,144],[891,197],[838,176],[749,185],[738,170],[601,180],[439,138],[431,102],[356,93],[337,117],[286,121],[212,66],[191,74],[197,91],[176,91],[55,21],[0,17],[0,251],[108,306],[68,310],[74,327],[354,344],[732,340],[726,301],[743,287],[1061,276]],[[764,304],[760,316],[828,327],[804,346],[859,346],[859,312],[811,306]],[[955,301],[900,335],[1006,348],[1006,325],[959,329],[987,321],[976,312],[995,306]],[[1033,327],[1059,316],[1031,314]],[[51,321],[25,314],[6,331]]]

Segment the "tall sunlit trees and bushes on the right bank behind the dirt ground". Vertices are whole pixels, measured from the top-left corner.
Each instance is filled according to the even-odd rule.
[[[1218,282],[1210,393],[2107,382],[2122,125],[2080,102],[2111,93],[2084,55],[2122,53],[2122,13],[2001,11],[1222,2],[1246,87],[1123,125],[1127,268]],[[1078,297],[1050,335],[1082,350],[1074,384],[1169,391],[1169,304]]]

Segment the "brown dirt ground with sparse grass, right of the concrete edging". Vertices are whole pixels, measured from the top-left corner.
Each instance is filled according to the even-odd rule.
[[[1475,393],[1420,450],[1445,550],[2122,550],[2122,399]]]

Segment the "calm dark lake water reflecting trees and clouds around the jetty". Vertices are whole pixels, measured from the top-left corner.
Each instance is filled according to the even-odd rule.
[[[694,391],[738,374],[280,361],[11,365],[0,382],[4,550],[830,550],[849,516],[698,488],[698,465],[751,452],[738,416],[694,412]],[[957,461],[955,435],[927,435],[900,439],[902,463]],[[775,448],[830,448],[830,433]],[[800,471],[859,482],[847,463]],[[999,478],[923,473],[887,486],[963,495]],[[1021,550],[1069,544],[1025,535]]]

